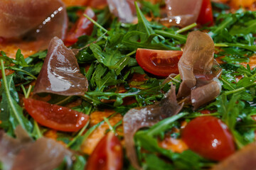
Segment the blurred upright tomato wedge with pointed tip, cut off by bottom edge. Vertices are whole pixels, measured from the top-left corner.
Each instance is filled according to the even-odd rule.
[[[122,145],[112,132],[100,140],[87,162],[86,170],[121,170]]]

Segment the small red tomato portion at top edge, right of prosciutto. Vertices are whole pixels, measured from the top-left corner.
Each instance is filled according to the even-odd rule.
[[[202,25],[208,23],[209,26],[213,26],[213,10],[210,0],[203,0],[201,11],[196,22]]]

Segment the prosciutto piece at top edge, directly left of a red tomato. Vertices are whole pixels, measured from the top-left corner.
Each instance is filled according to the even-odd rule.
[[[165,0],[165,2],[167,17],[161,19],[162,22],[174,26],[188,26],[196,23],[202,0]]]

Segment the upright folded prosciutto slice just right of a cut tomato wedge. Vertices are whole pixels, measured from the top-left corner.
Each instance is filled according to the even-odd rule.
[[[197,30],[188,34],[178,62],[182,82],[177,97],[191,96],[195,109],[220,94],[221,84],[216,78],[220,77],[221,69],[213,55],[214,42],[207,33]]]

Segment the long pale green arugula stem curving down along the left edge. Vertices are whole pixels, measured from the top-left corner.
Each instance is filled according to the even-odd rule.
[[[5,69],[4,69],[4,60],[0,60],[1,62],[1,72],[2,72],[2,79],[3,79],[3,84],[2,86],[4,86],[4,91],[6,92],[6,96],[7,96],[7,101],[9,103],[9,105],[11,106],[12,110],[14,111],[14,115],[16,116],[16,119],[18,120],[18,123],[21,125],[21,127],[23,129],[26,130],[26,127],[23,123],[23,121],[21,120],[21,118],[18,116],[18,111],[16,109],[16,107],[14,106],[13,101],[11,100],[11,94],[10,94],[10,90],[9,87],[7,85],[7,79],[6,79],[6,74],[5,74]]]

